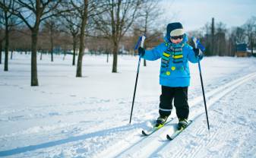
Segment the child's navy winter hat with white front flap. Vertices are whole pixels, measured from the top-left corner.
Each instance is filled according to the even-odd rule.
[[[177,23],[170,23],[166,27],[166,37],[170,39],[171,36],[181,36],[185,33],[183,30],[182,24]]]

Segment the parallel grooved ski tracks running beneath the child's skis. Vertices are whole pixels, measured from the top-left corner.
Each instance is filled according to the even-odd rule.
[[[211,90],[208,93],[206,93],[205,96],[206,96],[206,100],[207,100],[208,109],[210,106],[212,106],[218,100],[220,100],[220,98],[222,98],[223,96],[226,96],[226,94],[229,93],[231,90],[234,90],[235,88],[239,87],[241,84],[244,84],[246,81],[250,80],[253,77],[256,77],[256,73],[251,73],[251,74],[245,75],[244,77],[240,77],[239,79],[236,79],[235,81],[231,81],[228,84],[224,84],[223,86],[217,87],[216,89]],[[191,100],[191,102],[189,104],[190,104],[191,108],[195,107],[195,109],[193,109],[194,111],[197,111],[196,113],[191,112],[191,115],[190,115],[190,119],[194,120],[194,122],[196,119],[198,119],[199,116],[205,115],[204,114],[204,102],[203,102],[202,96],[198,96],[194,100]],[[201,104],[201,105],[198,106],[198,104]],[[126,144],[125,147],[115,148],[116,150],[115,150],[114,154],[111,154],[111,156],[109,156],[109,157],[149,157],[149,156],[155,157],[155,156],[157,156],[158,152],[160,152],[161,150],[165,150],[169,146],[168,144],[171,143],[168,140],[166,140],[166,134],[171,134],[174,131],[175,122],[178,122],[177,118],[173,119],[172,122],[170,122],[168,125],[161,128],[160,131],[156,131],[149,137],[141,138],[139,136],[134,135],[136,137],[134,137],[132,140],[129,140],[129,142],[131,142],[131,143]],[[191,128],[191,127],[193,127],[193,123],[188,128]],[[204,130],[198,129],[197,132],[198,132],[198,134],[200,134],[201,132],[204,132],[205,130],[206,130],[206,127]],[[186,132],[186,131],[187,130],[185,130],[183,132],[188,134],[188,132]],[[217,133],[218,133],[217,131],[215,131],[213,133],[212,137],[214,139],[217,137],[216,136]],[[179,137],[181,137],[181,136],[182,136],[182,134],[180,134]],[[179,139],[179,137],[177,137],[176,139]],[[204,140],[201,140],[201,141],[204,141]],[[207,140],[207,141],[209,141],[209,142],[207,142],[207,144],[211,144],[213,142],[213,140]],[[117,147],[116,145],[114,145],[114,146]],[[193,146],[193,143],[191,143],[191,146]],[[112,150],[110,150],[110,148],[113,148],[113,147],[109,147],[109,150],[106,150],[104,153],[112,153]],[[197,155],[199,149],[200,149],[200,147],[198,147],[198,149],[194,149],[193,155]],[[179,156],[179,157],[186,156],[183,154],[180,155],[180,153],[182,153],[182,152],[179,152],[179,155],[176,155],[176,156]],[[185,153],[185,152],[183,152],[183,153]],[[175,156],[173,156],[173,157],[175,157]]]

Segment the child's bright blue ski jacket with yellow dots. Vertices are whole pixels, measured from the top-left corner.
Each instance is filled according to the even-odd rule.
[[[142,58],[150,61],[161,58],[160,85],[166,87],[188,87],[190,85],[188,61],[198,63],[201,58],[196,57],[193,48],[187,44],[188,38],[186,34],[184,34],[182,43],[179,43],[182,44],[182,54],[180,55],[175,55],[173,52],[166,53],[169,50],[168,43],[171,42],[166,37],[164,40],[165,43],[161,43],[151,50],[146,50]],[[172,43],[172,45],[174,44]],[[179,58],[179,63],[175,62],[176,57]],[[169,62],[166,62],[167,60]]]

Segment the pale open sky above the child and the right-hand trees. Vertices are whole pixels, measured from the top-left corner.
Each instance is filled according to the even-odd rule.
[[[256,16],[256,0],[163,0],[164,21],[179,21],[186,30],[197,30],[212,17],[227,28],[238,27]]]

